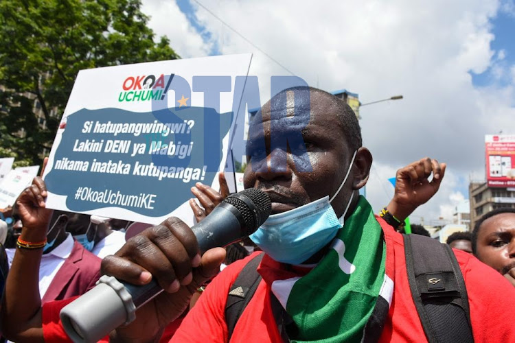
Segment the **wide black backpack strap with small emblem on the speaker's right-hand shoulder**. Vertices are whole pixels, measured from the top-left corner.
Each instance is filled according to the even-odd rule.
[[[422,235],[403,235],[406,269],[430,343],[474,342],[465,282],[453,250]]]

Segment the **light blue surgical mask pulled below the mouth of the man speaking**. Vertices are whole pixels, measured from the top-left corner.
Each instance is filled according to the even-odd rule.
[[[331,202],[347,181],[355,157],[356,152],[343,182],[331,199],[325,196],[296,209],[271,215],[250,239],[268,256],[282,263],[300,264],[319,252],[343,227],[343,218],[354,193],[351,194],[340,219],[336,217]]]

